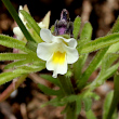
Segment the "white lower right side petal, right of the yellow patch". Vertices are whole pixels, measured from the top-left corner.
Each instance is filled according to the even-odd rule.
[[[67,53],[67,64],[72,64],[79,58],[77,49],[64,45]]]

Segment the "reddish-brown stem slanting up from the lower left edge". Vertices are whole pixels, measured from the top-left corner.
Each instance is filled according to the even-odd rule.
[[[24,80],[26,79],[27,76],[28,76],[28,75],[24,75],[24,76],[22,76],[19,79],[17,79],[16,82],[13,81],[13,82],[5,89],[5,91],[2,92],[2,94],[0,94],[0,103],[3,102],[4,100],[6,100],[6,98],[10,96],[10,94],[11,94],[14,90],[17,89],[17,88],[19,87],[19,84],[24,82]]]

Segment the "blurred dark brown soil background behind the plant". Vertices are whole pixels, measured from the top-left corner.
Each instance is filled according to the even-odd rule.
[[[119,15],[119,0],[11,0],[12,4],[18,11],[19,5],[28,5],[31,16],[40,22],[48,11],[51,11],[52,26],[56,19],[60,19],[63,9],[67,9],[70,19],[74,22],[76,16],[81,16],[82,25],[90,22],[93,27],[92,39],[105,36],[114,25]],[[14,19],[0,1],[0,34],[13,36]],[[11,49],[0,45],[0,52],[12,52]],[[0,71],[9,62],[0,62]],[[63,107],[48,106],[40,109],[40,105],[50,98],[37,88],[36,81],[41,81],[45,85],[53,87],[50,82],[39,79],[39,74],[30,75],[27,80],[11,95],[6,101],[0,103],[0,119],[63,119],[60,114]],[[93,78],[96,72],[93,74]],[[11,82],[0,85],[2,93]],[[113,81],[104,85],[106,91],[100,89],[102,97],[113,89]],[[94,107],[95,115],[102,119],[102,101],[96,102]],[[80,119],[85,119],[82,111]]]

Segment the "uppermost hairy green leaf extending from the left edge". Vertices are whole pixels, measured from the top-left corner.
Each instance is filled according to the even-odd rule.
[[[25,42],[19,41],[9,36],[0,35],[0,44],[8,47],[8,48],[18,49],[26,53],[34,53],[31,50],[25,47],[26,45]]]

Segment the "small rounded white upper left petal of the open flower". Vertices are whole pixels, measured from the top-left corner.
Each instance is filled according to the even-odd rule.
[[[51,31],[50,31],[49,29],[42,28],[42,29],[40,30],[40,37],[41,37],[41,39],[42,39],[43,41],[50,43],[50,42],[52,42],[52,37],[53,37],[53,35],[51,34]]]

